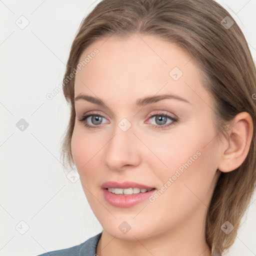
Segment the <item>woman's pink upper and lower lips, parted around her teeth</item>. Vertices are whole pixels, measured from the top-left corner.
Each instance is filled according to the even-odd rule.
[[[137,193],[137,194],[129,194],[129,195],[120,195],[120,194],[114,194],[107,190],[107,187],[114,187],[114,188],[129,188],[129,187],[138,187],[138,188],[152,188],[152,190],[144,193]],[[104,182],[101,185],[101,189],[103,192],[104,199],[111,204],[112,206],[116,207],[132,207],[139,202],[147,199],[150,195],[152,195],[156,189],[155,187],[150,187],[144,184],[136,183],[136,182],[130,182],[130,181],[124,181],[122,183],[118,183],[115,181],[107,181]]]

